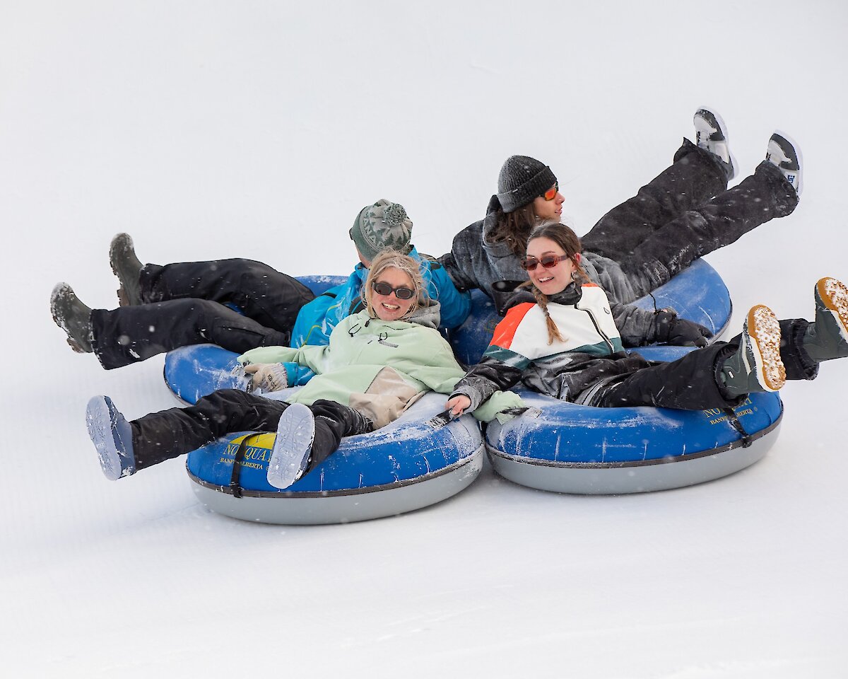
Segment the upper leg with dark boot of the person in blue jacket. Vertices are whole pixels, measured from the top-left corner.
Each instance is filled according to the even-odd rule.
[[[260,261],[226,259],[143,265],[132,238],[119,233],[109,262],[120,280],[121,306],[181,300],[209,300],[236,306],[266,328],[291,330],[300,308],[315,295],[297,279]]]

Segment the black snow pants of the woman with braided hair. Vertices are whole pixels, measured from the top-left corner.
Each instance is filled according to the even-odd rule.
[[[793,318],[780,322],[780,358],[786,379],[815,379],[818,364],[803,346],[808,322]],[[653,406],[681,410],[736,407],[745,396],[733,397],[722,389],[718,374],[728,356],[739,349],[740,335],[690,351],[671,362],[652,362],[622,379],[606,384],[592,397],[597,407]]]

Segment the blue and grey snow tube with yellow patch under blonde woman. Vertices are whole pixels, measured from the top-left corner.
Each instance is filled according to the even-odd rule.
[[[241,432],[192,451],[188,475],[200,502],[235,519],[337,524],[409,512],[462,491],[483,469],[477,420],[464,415],[441,427],[428,424],[443,410],[444,395],[422,396],[392,424],[343,439],[284,491],[265,476],[274,434]]]

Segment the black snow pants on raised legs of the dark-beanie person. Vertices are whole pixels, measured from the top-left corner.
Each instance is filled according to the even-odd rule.
[[[727,172],[716,155],[684,139],[672,166],[583,236],[583,250],[618,262],[641,297],[798,205],[783,172],[766,160],[734,188]]]

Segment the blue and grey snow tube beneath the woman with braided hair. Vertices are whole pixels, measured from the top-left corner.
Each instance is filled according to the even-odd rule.
[[[540,412],[486,430],[495,471],[542,491],[611,495],[715,480],[760,460],[778,436],[776,393],[734,409],[594,408],[522,392]]]

